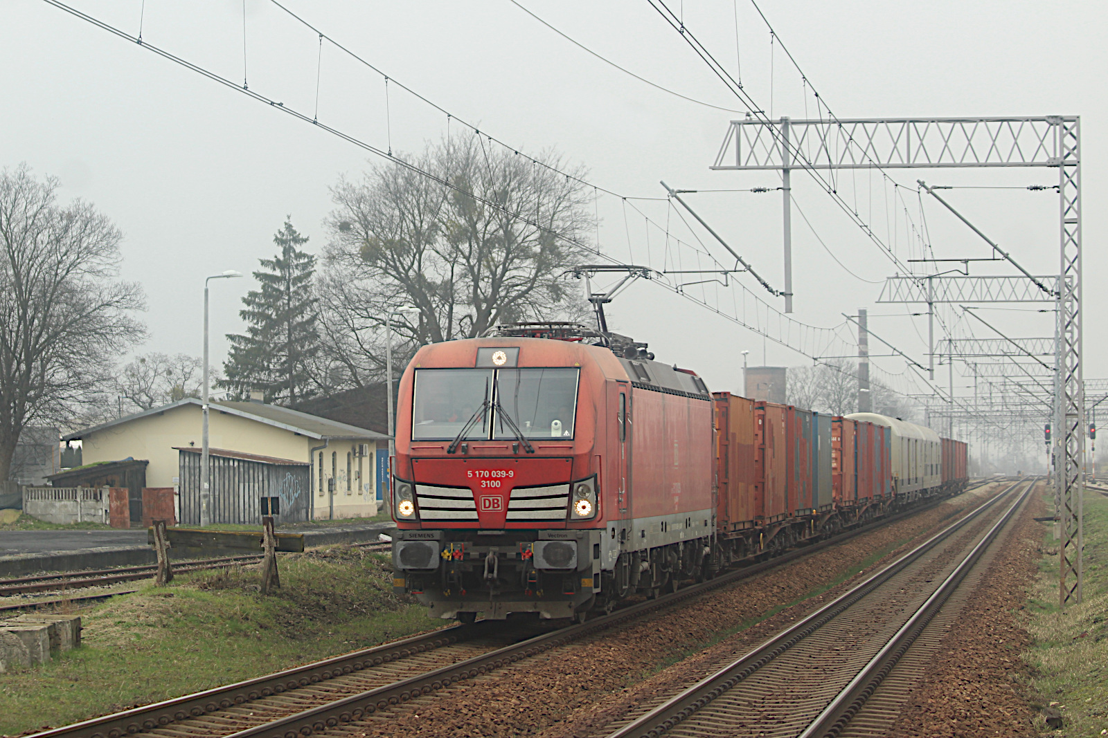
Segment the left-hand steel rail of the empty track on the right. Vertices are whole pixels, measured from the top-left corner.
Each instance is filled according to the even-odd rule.
[[[907,568],[914,561],[920,559],[920,557],[933,549],[943,540],[947,539],[971,520],[974,520],[977,516],[985,512],[985,510],[989,509],[1003,497],[1006,497],[1020,484],[1023,482],[1016,481],[1012,484],[1012,486],[989,498],[968,514],[963,516],[961,519],[951,523],[942,531],[935,533],[919,547],[883,568],[881,571],[871,574],[848,592],[823,605],[819,610],[810,613],[792,626],[762,643],[760,646],[753,648],[738,659],[731,662],[727,666],[718,669],[716,673],[705,677],[697,684],[671,697],[645,715],[639,716],[637,719],[609,734],[607,738],[657,738],[657,736],[690,717],[697,710],[705,707],[736,684],[794,646],[801,640],[818,631],[833,617],[845,611],[848,607],[888,580],[892,579],[895,574]]]

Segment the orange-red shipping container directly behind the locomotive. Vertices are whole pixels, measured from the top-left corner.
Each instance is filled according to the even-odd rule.
[[[748,528],[760,514],[761,487],[755,476],[755,402],[715,393],[716,480],[720,530]]]

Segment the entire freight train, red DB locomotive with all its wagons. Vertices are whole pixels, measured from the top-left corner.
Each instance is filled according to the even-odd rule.
[[[714,394],[567,323],[421,347],[396,448],[394,591],[463,622],[607,611],[966,484],[930,428]]]

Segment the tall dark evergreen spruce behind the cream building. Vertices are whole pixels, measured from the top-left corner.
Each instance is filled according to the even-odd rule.
[[[238,314],[247,323],[246,335],[228,334],[230,353],[224,363],[226,378],[219,383],[233,397],[246,399],[261,389],[266,402],[293,405],[311,395],[308,371],[319,344],[312,276],[316,258],[299,250],[308,242],[286,218],[274,236],[280,252],[258,259],[254,272],[260,290],[252,290]]]

